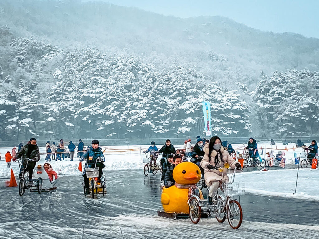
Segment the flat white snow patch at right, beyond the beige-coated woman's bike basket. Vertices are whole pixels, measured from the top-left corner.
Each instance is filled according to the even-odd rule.
[[[243,181],[245,191],[253,194],[319,201],[319,170],[300,168],[295,192],[297,169],[251,171],[235,175]]]

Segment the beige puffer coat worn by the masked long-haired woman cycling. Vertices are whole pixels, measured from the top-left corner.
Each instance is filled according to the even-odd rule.
[[[217,152],[215,149],[213,149],[213,151],[211,151],[211,159],[209,159],[208,154],[209,154],[209,143],[205,144],[203,151],[205,152],[205,155],[202,159],[202,162],[200,163],[200,166],[205,170],[205,183],[207,186],[211,186],[212,182],[216,182],[218,180],[220,181],[229,181],[226,172],[224,172],[224,178],[223,178],[223,174],[222,172],[220,172],[219,170],[209,170],[207,168],[208,164],[211,164],[213,166],[219,166],[219,167],[224,167],[225,163],[228,163],[229,166],[234,169],[235,168],[235,164],[237,163],[227,152],[227,150],[224,149],[223,146],[220,147],[220,152],[222,154],[223,160],[225,161],[225,163],[223,163],[220,160],[220,154],[219,152]],[[219,163],[217,165],[215,165],[215,156],[218,155],[219,158]]]

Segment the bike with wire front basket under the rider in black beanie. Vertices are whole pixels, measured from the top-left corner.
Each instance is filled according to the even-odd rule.
[[[94,194],[98,194],[98,193],[102,193],[102,195],[104,196],[106,193],[106,178],[104,177],[104,175],[102,174],[101,176],[101,182],[98,182],[98,178],[100,176],[99,174],[99,167],[96,167],[96,163],[100,162],[99,159],[95,160],[95,166],[94,168],[89,168],[89,165],[86,161],[86,165],[87,168],[85,168],[85,173],[86,173],[86,177],[89,179],[89,189],[90,189],[90,193],[92,194],[92,198],[94,199]],[[83,180],[83,188],[84,188],[84,196],[86,197],[86,188],[84,185],[84,180]]]

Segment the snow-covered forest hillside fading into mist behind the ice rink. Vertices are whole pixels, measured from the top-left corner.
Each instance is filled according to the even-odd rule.
[[[37,7],[34,7],[34,6]],[[0,139],[317,135],[319,39],[222,17],[0,2]]]

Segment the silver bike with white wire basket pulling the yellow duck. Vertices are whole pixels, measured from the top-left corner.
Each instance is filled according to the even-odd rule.
[[[221,167],[216,167],[216,169],[221,171],[224,177],[224,169]],[[233,199],[232,196],[239,198],[239,195],[244,194],[245,190],[243,182],[234,183],[235,173],[236,170],[230,176],[230,182],[224,182],[220,185],[221,192],[224,193],[217,190],[211,205],[207,203],[207,200],[202,200],[197,195],[189,195],[189,218],[193,223],[197,224],[201,219],[201,213],[204,213],[208,217],[216,217],[218,222],[224,222],[227,218],[231,228],[240,228],[242,209],[239,201]]]

